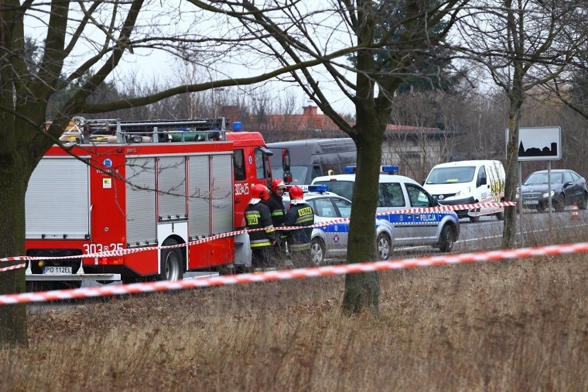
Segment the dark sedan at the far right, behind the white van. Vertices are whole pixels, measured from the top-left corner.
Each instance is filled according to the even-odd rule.
[[[522,183],[522,206],[540,212],[549,206],[549,172],[539,170],[533,172]],[[556,211],[563,211],[565,206],[576,202],[578,208],[586,209],[588,192],[586,179],[574,170],[551,170],[551,206]]]

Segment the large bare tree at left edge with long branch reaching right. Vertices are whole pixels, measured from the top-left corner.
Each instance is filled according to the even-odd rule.
[[[124,59],[141,50],[196,58],[204,65],[217,62],[217,52],[207,57],[204,51],[216,43],[202,29],[200,35],[191,33],[193,28],[198,29],[202,15],[195,14],[193,26],[182,24],[186,20],[184,8],[189,6],[183,4],[179,9],[174,2],[143,0],[0,3],[0,257],[23,254],[28,179],[73,115],[136,108],[182,93],[259,83],[331,58],[262,70],[251,77],[222,79],[219,74],[216,80],[174,86],[139,97],[92,101],[92,94],[108,77],[116,75]],[[31,32],[36,35],[33,46],[27,36]],[[194,52],[202,55],[193,57]],[[52,100],[66,88],[72,91],[65,99]],[[50,106],[57,114],[46,128]],[[24,286],[22,268],[0,274],[0,293],[20,292]],[[24,305],[2,306],[0,346],[26,343]]]

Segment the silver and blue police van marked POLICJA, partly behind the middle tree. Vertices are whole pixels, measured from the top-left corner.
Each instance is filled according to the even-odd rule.
[[[415,180],[397,175],[398,166],[382,166],[378,189],[378,213],[408,208],[438,206],[437,199]],[[355,167],[345,168],[342,175],[315,177],[313,185],[326,185],[329,191],[351,199],[355,183]],[[386,174],[393,173],[393,174]],[[460,221],[453,211],[378,215],[392,226],[393,246],[431,245],[442,252],[451,252],[460,235]]]

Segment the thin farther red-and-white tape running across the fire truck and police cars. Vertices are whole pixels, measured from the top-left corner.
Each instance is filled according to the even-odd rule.
[[[406,213],[431,213],[431,212],[450,211],[450,210],[471,210],[474,208],[489,208],[489,207],[496,208],[496,207],[504,207],[504,206],[516,206],[516,202],[476,203],[476,204],[459,204],[459,205],[454,205],[454,206],[449,206],[449,205],[448,206],[435,206],[435,207],[427,207],[427,208],[407,208],[404,210],[395,210],[395,211],[386,211],[386,212],[382,212],[382,213],[377,213],[376,216],[406,214]],[[321,223],[313,224],[311,226],[306,226],[306,227],[308,227],[308,228],[322,227],[322,226],[329,226],[331,224],[346,223],[346,222],[349,222],[349,218],[333,219],[329,222],[321,222]],[[298,229],[300,229],[300,226],[286,226],[286,227],[279,228],[279,230],[281,230],[281,231],[298,230]],[[138,252],[144,252],[144,251],[154,251],[154,250],[160,250],[160,249],[164,249],[164,248],[183,248],[185,246],[193,246],[196,244],[203,244],[204,242],[210,242],[215,239],[234,237],[235,235],[249,233],[251,231],[262,231],[262,230],[265,230],[265,228],[255,228],[255,229],[250,229],[250,230],[231,231],[228,233],[221,233],[221,234],[217,234],[217,235],[212,235],[210,237],[206,237],[206,238],[202,238],[202,239],[196,239],[196,240],[190,241],[186,244],[177,244],[177,245],[170,245],[170,246],[144,246],[141,248],[124,248],[124,249],[115,249],[112,251],[106,251],[106,252],[100,252],[100,253],[89,253],[86,255],[72,255],[72,256],[59,256],[59,257],[43,257],[43,256],[4,257],[4,258],[0,258],[0,262],[124,256],[124,255],[129,255],[131,253],[138,253]]]

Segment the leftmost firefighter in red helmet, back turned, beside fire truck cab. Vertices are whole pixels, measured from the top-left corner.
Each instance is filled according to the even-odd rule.
[[[277,242],[277,234],[271,221],[271,213],[266,205],[270,197],[269,189],[262,184],[255,184],[251,189],[251,200],[245,208],[245,222],[250,231],[249,243],[251,244],[251,264],[253,271],[263,271],[271,268],[274,259],[274,246]]]

